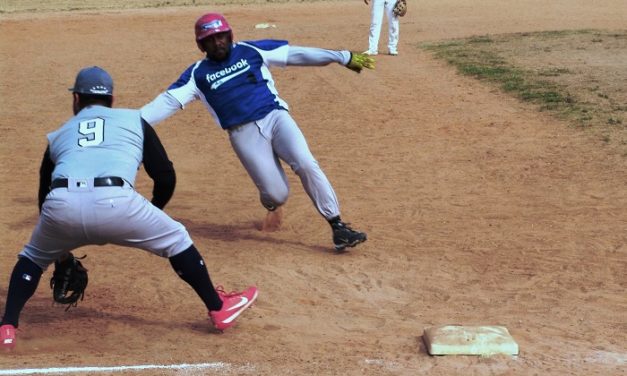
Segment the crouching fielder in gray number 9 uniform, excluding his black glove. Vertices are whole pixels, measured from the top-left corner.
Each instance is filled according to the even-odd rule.
[[[75,116],[48,134],[40,170],[40,216],[18,255],[0,323],[0,347],[15,346],[15,329],[44,270],[73,249],[107,243],[168,258],[201,298],[218,330],[233,325],[257,298],[257,288],[225,293],[214,288],[185,227],[161,209],[175,187],[175,172],[161,141],[138,110],[113,109],[113,81],[99,67],[75,81]],[[133,189],[142,164],[154,181],[152,203]]]

